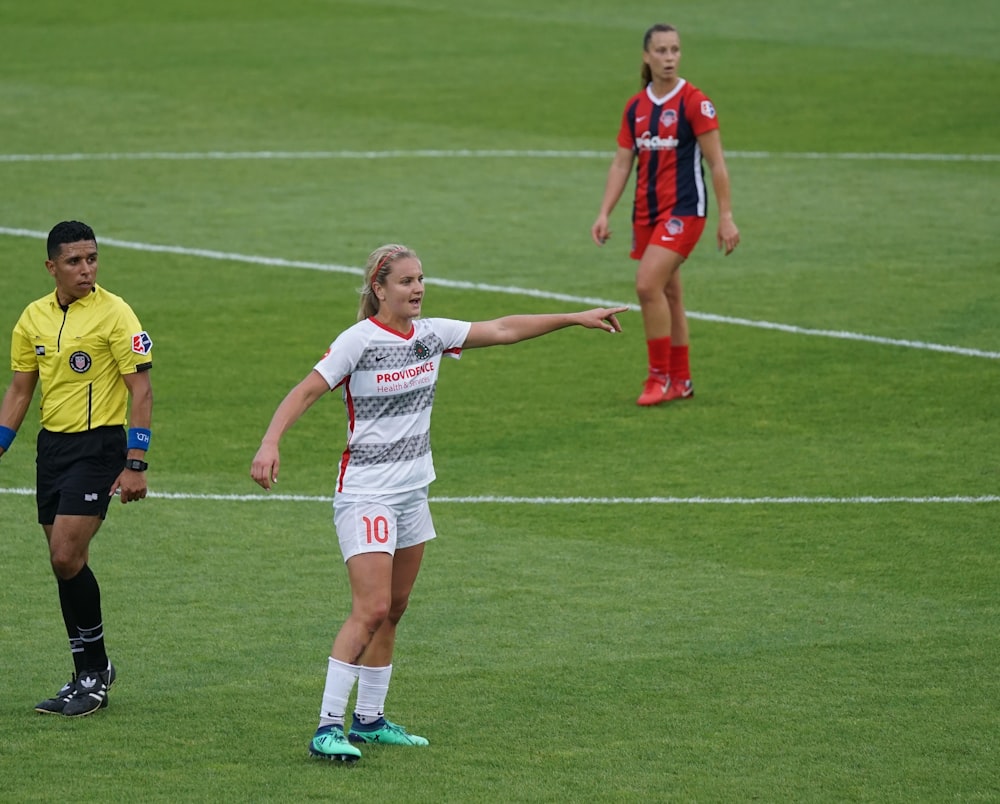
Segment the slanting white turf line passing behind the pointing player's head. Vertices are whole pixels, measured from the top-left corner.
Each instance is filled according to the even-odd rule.
[[[7,226],[0,226],[0,235],[11,237],[31,237],[37,240],[44,240],[48,235],[46,232],[33,231],[31,229],[16,229]],[[242,262],[253,265],[268,265],[278,268],[304,268],[310,271],[328,271],[330,273],[351,274],[363,276],[364,270],[350,265],[337,265],[303,262],[299,260],[286,260],[280,257],[261,257],[251,254],[234,254],[224,251],[213,251],[211,249],[185,248],[183,246],[162,246],[154,243],[136,243],[130,240],[116,240],[114,238],[102,237],[100,242],[104,245],[117,246],[118,248],[131,249],[133,251],[144,251],[148,253],[178,254],[185,257],[200,257],[209,260],[224,260],[226,262]],[[446,288],[458,290],[477,290],[488,293],[506,293],[512,296],[528,296],[536,299],[551,299],[553,301],[569,302],[571,304],[586,304],[596,307],[629,307],[638,310],[638,306],[628,302],[615,301],[613,299],[598,299],[587,296],[571,296],[566,293],[555,293],[546,290],[534,290],[532,288],[519,288],[506,285],[489,285],[482,282],[464,282],[454,279],[438,279],[429,277],[428,285],[439,285]],[[878,335],[865,335],[860,332],[841,332],[827,329],[809,329],[806,327],[796,327],[791,324],[778,324],[772,321],[754,321],[748,318],[732,318],[729,316],[715,315],[713,313],[699,313],[688,311],[688,318],[701,321],[711,321],[717,324],[733,324],[743,327],[754,327],[757,329],[769,329],[778,332],[787,332],[794,335],[808,335],[821,338],[835,338],[848,341],[864,341],[866,343],[877,343],[884,346],[902,346],[908,349],[923,349],[932,352],[946,352],[948,354],[963,355],[965,357],[980,357],[987,360],[1000,360],[1000,352],[988,352],[982,349],[970,349],[963,346],[948,346],[940,343],[925,343],[923,341],[903,340],[899,338],[883,338]]]

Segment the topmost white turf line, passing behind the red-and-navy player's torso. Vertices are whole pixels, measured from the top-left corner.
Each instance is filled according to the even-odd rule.
[[[0,154],[0,162],[148,162],[249,159],[610,159],[611,151],[415,149],[390,151],[137,151],[120,153]],[[734,159],[811,159],[889,162],[1000,162],[1000,154],[822,153],[726,151]]]

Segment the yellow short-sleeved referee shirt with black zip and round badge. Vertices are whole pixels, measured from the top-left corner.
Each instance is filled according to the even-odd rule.
[[[10,367],[38,372],[41,424],[56,433],[125,425],[123,374],[153,365],[153,342],[124,299],[95,285],[63,309],[55,291],[21,313],[10,343]]]

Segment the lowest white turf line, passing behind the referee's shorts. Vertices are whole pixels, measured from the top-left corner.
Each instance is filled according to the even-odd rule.
[[[0,488],[0,494],[32,496],[34,489]],[[206,500],[210,502],[333,502],[332,497],[304,494],[186,494],[183,492],[151,491],[152,499]],[[978,497],[431,497],[432,503],[493,503],[497,505],[888,505],[892,503],[925,503],[980,505],[998,503],[1000,495]]]

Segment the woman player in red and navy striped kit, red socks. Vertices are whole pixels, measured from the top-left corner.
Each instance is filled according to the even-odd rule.
[[[708,191],[702,159],[708,163],[719,209],[718,247],[728,255],[740,242],[715,107],[677,74],[680,59],[676,28],[654,25],[646,31],[642,90],[625,105],[618,149],[590,230],[597,245],[607,242],[608,218],[635,163],[631,257],[639,261],[635,287],[649,359],[640,405],[694,396],[680,267],[705,228]]]

